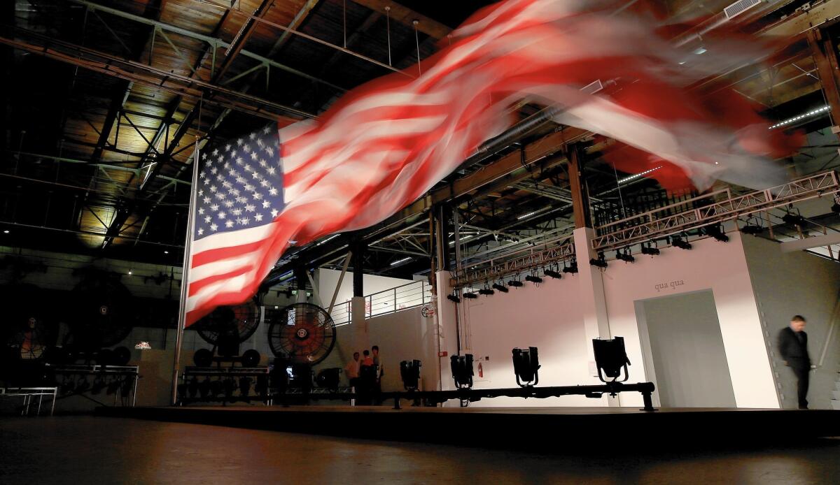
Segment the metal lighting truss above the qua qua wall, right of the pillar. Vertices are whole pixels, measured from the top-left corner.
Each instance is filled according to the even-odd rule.
[[[691,202],[708,201],[705,205],[690,211],[661,216],[663,212],[672,208],[672,206],[664,206],[638,216],[596,227],[596,237],[592,239],[592,248],[599,251],[623,248],[634,243],[648,241],[653,237],[664,237],[688,228],[704,227],[793,202],[834,194],[838,191],[840,191],[840,184],[837,182],[837,173],[833,170],[770,189],[750,192],[743,196],[732,196],[729,189],[717,190],[690,200]],[[678,204],[686,202],[680,201]]]

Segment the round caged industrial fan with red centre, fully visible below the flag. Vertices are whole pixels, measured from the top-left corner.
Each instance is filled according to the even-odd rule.
[[[268,344],[271,352],[285,362],[315,365],[335,346],[333,318],[318,305],[288,305],[272,319]]]

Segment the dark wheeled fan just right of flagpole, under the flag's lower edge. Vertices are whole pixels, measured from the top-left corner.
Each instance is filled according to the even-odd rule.
[[[242,305],[219,306],[196,323],[196,330],[213,350],[200,349],[193,360],[198,367],[207,367],[213,353],[234,360],[239,356],[239,344],[248,340],[260,325],[260,306],[252,300]],[[241,357],[244,367],[255,367],[260,362],[260,352],[253,349]]]

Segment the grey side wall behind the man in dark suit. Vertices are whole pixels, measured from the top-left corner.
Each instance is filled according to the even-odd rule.
[[[795,315],[808,323],[808,352],[817,364],[826,343],[832,311],[840,295],[840,265],[804,251],[782,253],[779,243],[759,237],[744,237],[749,273],[758,300],[767,347],[780,384],[782,407],[796,408],[796,381],[782,364],[776,349],[779,331],[790,325]],[[832,389],[840,362],[840,328],[828,342],[822,368],[811,372],[809,407],[831,409]]]

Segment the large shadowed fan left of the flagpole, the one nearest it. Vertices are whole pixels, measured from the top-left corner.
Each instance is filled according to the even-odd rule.
[[[129,336],[134,312],[129,289],[113,274],[88,271],[71,292],[70,325],[77,352],[99,352]]]

